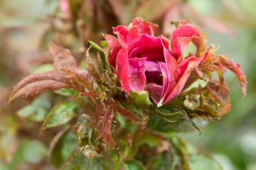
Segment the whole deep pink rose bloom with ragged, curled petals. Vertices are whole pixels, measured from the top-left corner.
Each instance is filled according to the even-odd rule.
[[[195,26],[185,24],[172,32],[171,41],[154,36],[157,25],[135,18],[130,26],[117,26],[105,34],[111,48],[108,56],[122,89],[148,91],[157,106],[165,105],[184,89],[191,71],[202,61],[197,56],[184,57],[190,41],[199,48],[202,35]],[[197,49],[198,50],[198,49]]]

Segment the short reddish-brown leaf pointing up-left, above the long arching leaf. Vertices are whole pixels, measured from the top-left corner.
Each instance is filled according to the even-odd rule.
[[[66,68],[78,68],[78,63],[75,61],[74,56],[69,50],[61,46],[50,43],[49,53],[53,56],[53,65],[58,71]]]

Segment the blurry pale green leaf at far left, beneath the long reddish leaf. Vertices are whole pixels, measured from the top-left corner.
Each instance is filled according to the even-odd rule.
[[[44,94],[36,98],[31,105],[26,105],[17,111],[17,115],[35,122],[41,122],[50,111],[50,107],[49,97]]]

